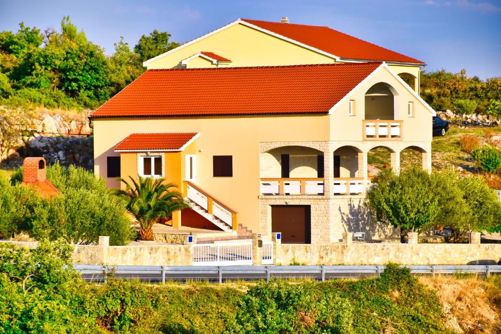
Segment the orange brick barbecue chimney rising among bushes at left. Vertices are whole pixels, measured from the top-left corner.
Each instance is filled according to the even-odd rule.
[[[51,197],[59,193],[57,188],[47,181],[47,163],[43,157],[25,158],[23,184],[36,186],[42,197]]]

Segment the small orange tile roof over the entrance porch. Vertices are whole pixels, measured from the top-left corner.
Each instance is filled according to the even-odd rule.
[[[115,147],[115,151],[182,150],[195,135],[195,132],[132,133]]]

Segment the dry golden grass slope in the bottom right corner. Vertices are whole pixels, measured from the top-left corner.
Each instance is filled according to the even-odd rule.
[[[498,333],[501,319],[495,300],[501,300],[501,280],[420,277],[419,281],[436,291],[447,326],[458,333]],[[496,299],[497,295],[497,299]]]

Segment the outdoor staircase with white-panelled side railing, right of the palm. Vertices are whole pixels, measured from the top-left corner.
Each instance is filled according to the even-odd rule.
[[[184,181],[185,199],[193,211],[225,232],[237,233],[237,212],[202,190],[197,185]]]

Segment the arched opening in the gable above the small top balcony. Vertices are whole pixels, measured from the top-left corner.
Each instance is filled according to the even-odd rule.
[[[365,119],[393,120],[397,91],[385,82],[373,85],[365,93]]]

